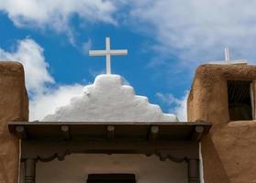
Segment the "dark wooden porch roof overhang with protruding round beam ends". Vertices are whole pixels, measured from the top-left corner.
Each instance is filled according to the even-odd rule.
[[[200,140],[210,123],[188,122],[11,122],[9,131],[26,140]]]

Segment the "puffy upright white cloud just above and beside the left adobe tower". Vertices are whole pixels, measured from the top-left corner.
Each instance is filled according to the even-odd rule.
[[[23,64],[26,86],[33,94],[45,92],[45,84],[54,83],[48,71],[49,65],[43,56],[43,48],[31,38],[18,40],[15,51],[8,52],[0,48],[0,59]]]

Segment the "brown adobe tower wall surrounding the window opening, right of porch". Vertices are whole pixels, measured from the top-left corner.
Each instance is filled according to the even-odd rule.
[[[188,121],[213,123],[202,140],[205,182],[256,182],[256,121],[229,122],[227,80],[255,81],[256,67],[202,65],[188,97]]]

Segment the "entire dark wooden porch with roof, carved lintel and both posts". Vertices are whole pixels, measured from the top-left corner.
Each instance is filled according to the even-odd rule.
[[[35,182],[36,163],[71,154],[144,154],[187,162],[188,182],[199,181],[199,143],[209,123],[11,122],[22,139],[25,182]]]

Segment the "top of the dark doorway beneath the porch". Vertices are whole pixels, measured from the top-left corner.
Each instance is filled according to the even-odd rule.
[[[87,183],[136,183],[134,174],[89,174]]]

